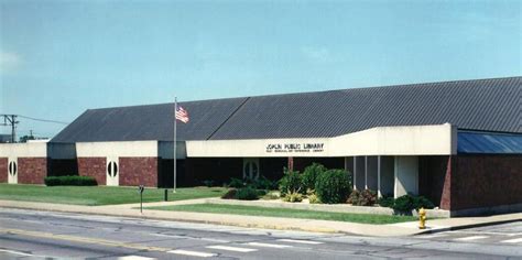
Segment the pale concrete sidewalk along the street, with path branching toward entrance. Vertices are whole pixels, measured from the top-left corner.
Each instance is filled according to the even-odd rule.
[[[161,202],[146,203],[145,207],[150,206],[170,206],[183,204],[198,204],[205,203],[206,199],[191,199],[180,202]],[[65,204],[48,204],[48,203],[31,203],[31,202],[14,202],[0,201],[0,207],[4,208],[22,208],[48,212],[77,213],[77,214],[94,214],[119,217],[145,218],[145,219],[163,219],[176,221],[191,221],[204,224],[217,224],[227,226],[240,226],[251,228],[268,228],[282,230],[302,230],[314,232],[345,232],[362,236],[378,236],[378,237],[395,237],[395,236],[412,236],[425,232],[446,231],[468,227],[486,226],[509,221],[522,220],[522,213],[505,214],[487,217],[467,217],[467,218],[447,218],[435,219],[427,221],[427,229],[421,230],[417,228],[417,221],[389,224],[389,225],[369,225],[344,221],[327,221],[313,220],[300,218],[279,218],[279,217],[260,217],[260,216],[242,216],[229,214],[208,214],[208,213],[185,213],[185,212],[165,212],[165,210],[150,210],[144,209],[140,214],[137,209],[140,204],[126,205],[108,205],[108,206],[78,206]]]

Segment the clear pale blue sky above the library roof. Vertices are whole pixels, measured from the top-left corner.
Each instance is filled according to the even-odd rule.
[[[522,75],[521,1],[0,0],[0,113]],[[64,126],[21,119],[19,136]],[[0,132],[9,132],[0,127]]]

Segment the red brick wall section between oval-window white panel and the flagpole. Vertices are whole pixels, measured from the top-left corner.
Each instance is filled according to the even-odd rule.
[[[120,158],[120,186],[157,186],[157,158]]]

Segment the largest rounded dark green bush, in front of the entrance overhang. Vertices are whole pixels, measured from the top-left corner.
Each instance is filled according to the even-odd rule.
[[[345,203],[351,193],[350,175],[344,170],[328,170],[317,176],[315,189],[323,203]]]

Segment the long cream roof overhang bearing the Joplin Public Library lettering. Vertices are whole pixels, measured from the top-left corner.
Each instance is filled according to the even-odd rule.
[[[449,155],[457,152],[449,124],[379,127],[334,138],[187,141],[188,158]]]

